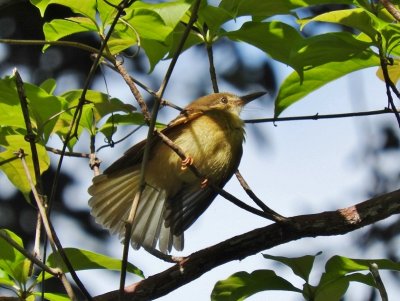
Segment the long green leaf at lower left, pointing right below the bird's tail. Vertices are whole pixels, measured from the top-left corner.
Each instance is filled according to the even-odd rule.
[[[106,269],[112,271],[120,271],[122,261],[120,259],[111,258],[103,254],[95,253],[92,251],[81,250],[76,248],[65,248],[65,254],[71,261],[75,271]],[[60,268],[63,272],[68,273],[67,267],[62,262],[58,253],[50,254],[47,259],[47,265],[53,268]],[[61,264],[61,266],[59,266]],[[127,271],[144,278],[143,272],[136,266],[128,262]],[[45,278],[51,278],[52,275],[46,273]],[[41,281],[41,275],[38,276],[38,281]]]

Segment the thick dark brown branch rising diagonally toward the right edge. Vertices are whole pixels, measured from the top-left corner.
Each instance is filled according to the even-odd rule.
[[[186,257],[171,268],[125,288],[123,300],[153,300],[197,279],[211,269],[305,237],[346,234],[400,213],[400,190],[336,211],[301,215],[230,238]],[[94,298],[115,300],[118,291]]]

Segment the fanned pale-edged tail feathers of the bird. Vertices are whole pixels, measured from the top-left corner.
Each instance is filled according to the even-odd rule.
[[[93,179],[89,188],[92,196],[89,206],[97,223],[109,229],[112,234],[125,237],[125,224],[128,221],[135,194],[138,192],[140,171],[125,169],[111,174],[103,174]],[[131,244],[135,249],[143,246],[159,249],[163,253],[183,249],[183,234],[175,236],[164,222],[166,191],[146,185],[133,221]]]

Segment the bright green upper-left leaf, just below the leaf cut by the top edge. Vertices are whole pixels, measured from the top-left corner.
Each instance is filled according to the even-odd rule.
[[[43,25],[46,41],[57,41],[75,33],[97,31],[93,20],[86,17],[72,17],[66,19],[54,19]],[[44,45],[46,50],[50,45]]]

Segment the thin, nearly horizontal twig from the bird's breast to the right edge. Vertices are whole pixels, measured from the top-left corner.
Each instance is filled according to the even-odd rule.
[[[393,114],[393,113],[395,113],[395,112],[392,109],[384,108],[383,110],[365,111],[365,112],[339,113],[339,114],[326,114],[326,115],[320,115],[317,113],[315,115],[245,119],[243,121],[245,123],[268,123],[268,122],[275,123],[275,122],[283,122],[283,121],[336,119],[336,118],[373,116],[373,115]]]

